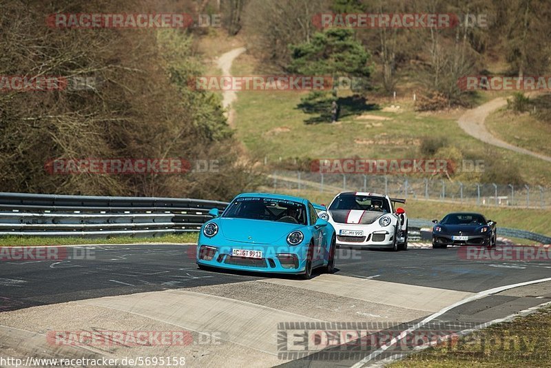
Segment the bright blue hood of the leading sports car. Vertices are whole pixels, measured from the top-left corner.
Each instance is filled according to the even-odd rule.
[[[287,238],[290,232],[303,225],[275,221],[249,220],[247,218],[220,218],[222,235],[229,241],[244,243],[275,243]]]

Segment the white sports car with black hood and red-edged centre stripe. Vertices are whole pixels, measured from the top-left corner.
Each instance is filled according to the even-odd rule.
[[[404,199],[384,194],[342,192],[337,194],[320,218],[329,221],[337,233],[337,245],[365,248],[408,248],[408,217]]]

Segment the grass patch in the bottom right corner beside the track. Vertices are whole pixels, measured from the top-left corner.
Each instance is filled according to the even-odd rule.
[[[551,367],[551,308],[430,347],[386,367]]]

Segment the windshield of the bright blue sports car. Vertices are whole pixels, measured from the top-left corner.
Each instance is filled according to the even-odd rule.
[[[306,207],[295,201],[276,198],[237,198],[228,206],[222,217],[249,218],[251,220],[278,221],[306,225]]]

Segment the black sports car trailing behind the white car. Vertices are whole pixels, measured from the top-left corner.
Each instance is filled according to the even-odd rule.
[[[448,245],[483,245],[494,247],[496,223],[476,213],[447,214],[441,221],[433,220],[433,248]]]

